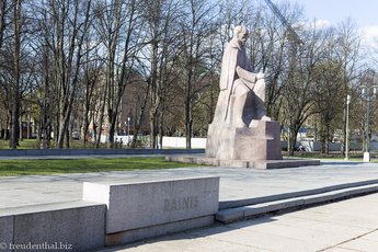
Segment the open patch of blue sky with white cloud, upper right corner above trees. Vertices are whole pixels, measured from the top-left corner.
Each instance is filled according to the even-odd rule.
[[[337,25],[351,18],[359,31],[363,44],[378,48],[378,1],[377,0],[272,0],[297,3],[303,7],[309,21],[317,20],[330,25]]]

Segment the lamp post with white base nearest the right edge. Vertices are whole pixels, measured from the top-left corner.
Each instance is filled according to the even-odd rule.
[[[365,152],[364,152],[364,162],[370,162],[370,140],[369,140],[369,130],[370,130],[370,111],[371,102],[376,99],[378,85],[367,87],[363,85],[360,91],[362,96],[366,100],[367,111],[366,111],[366,127],[365,127]]]

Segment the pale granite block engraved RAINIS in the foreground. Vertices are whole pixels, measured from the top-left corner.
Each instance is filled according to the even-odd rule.
[[[83,184],[83,199],[107,205],[106,233],[215,215],[219,177]]]

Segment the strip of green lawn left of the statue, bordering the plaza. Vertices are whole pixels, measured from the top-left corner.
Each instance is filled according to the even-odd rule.
[[[164,158],[1,160],[0,176],[50,175],[106,171],[134,171],[198,167],[164,161]]]

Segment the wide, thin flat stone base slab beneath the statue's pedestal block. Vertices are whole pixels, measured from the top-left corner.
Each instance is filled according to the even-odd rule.
[[[254,168],[254,169],[283,169],[305,165],[320,165],[320,160],[312,159],[284,159],[284,160],[224,160],[204,156],[167,156],[167,161],[207,164],[214,167]]]

